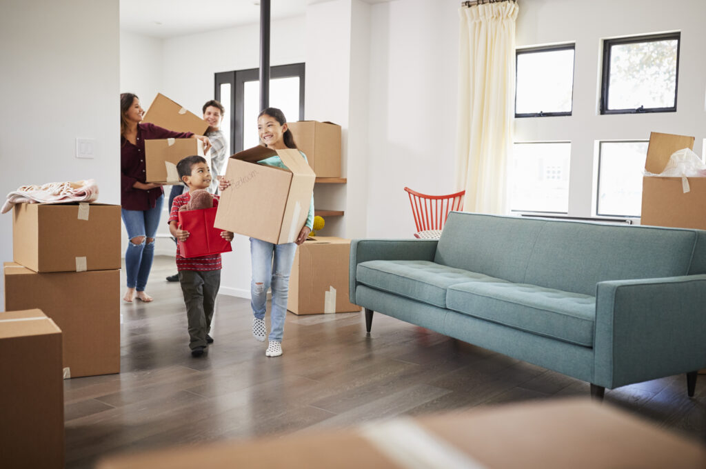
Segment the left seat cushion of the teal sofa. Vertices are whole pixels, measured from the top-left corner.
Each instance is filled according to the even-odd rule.
[[[504,280],[430,261],[367,261],[358,264],[356,280],[420,302],[446,307],[446,289],[457,283]]]

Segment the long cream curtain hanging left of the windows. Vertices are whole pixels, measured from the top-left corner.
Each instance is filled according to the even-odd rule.
[[[464,210],[504,214],[515,116],[517,3],[461,7],[456,185]]]

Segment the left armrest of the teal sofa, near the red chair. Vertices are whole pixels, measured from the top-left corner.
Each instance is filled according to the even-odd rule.
[[[365,261],[433,261],[438,239],[353,239],[348,271],[348,295],[355,302],[358,264]]]

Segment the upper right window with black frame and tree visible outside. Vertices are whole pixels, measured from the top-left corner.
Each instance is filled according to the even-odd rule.
[[[680,37],[604,40],[601,114],[676,112]]]

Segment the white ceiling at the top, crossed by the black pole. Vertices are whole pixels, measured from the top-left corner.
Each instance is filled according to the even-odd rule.
[[[303,16],[307,5],[324,1],[330,0],[271,0],[270,18]],[[259,0],[120,0],[121,30],[162,39],[259,22]]]

